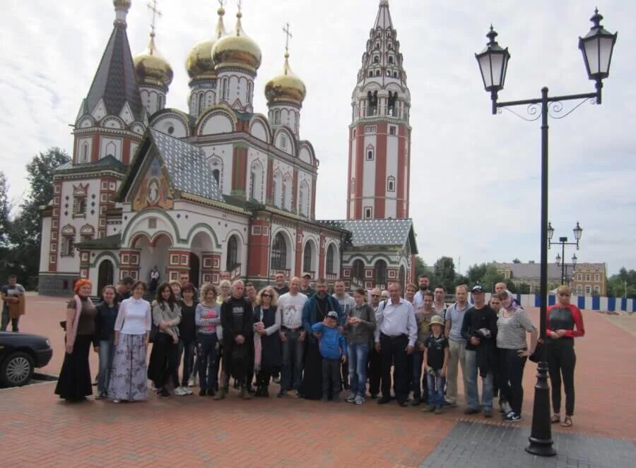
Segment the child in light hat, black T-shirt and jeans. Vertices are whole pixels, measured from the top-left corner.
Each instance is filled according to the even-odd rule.
[[[428,387],[428,404],[426,412],[442,414],[444,406],[444,384],[448,366],[448,340],[444,338],[444,319],[433,316],[428,325],[431,335],[424,342],[424,363]]]

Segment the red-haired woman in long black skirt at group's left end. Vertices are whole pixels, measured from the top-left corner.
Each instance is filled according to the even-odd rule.
[[[66,353],[55,394],[67,402],[81,402],[93,394],[88,353],[90,343],[95,342],[97,309],[90,301],[91,288],[90,281],[78,280],[73,287],[75,295],[66,306]]]

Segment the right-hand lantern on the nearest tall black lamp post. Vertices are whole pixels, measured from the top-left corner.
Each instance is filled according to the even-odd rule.
[[[594,10],[594,16],[589,20],[594,23],[585,37],[579,37],[579,49],[583,53],[587,76],[597,83],[609,76],[612,52],[618,32],[612,34],[601,26],[603,16],[599,10]]]

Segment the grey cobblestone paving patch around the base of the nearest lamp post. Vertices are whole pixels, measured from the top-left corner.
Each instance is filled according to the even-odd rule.
[[[628,468],[636,455],[634,444],[579,434],[555,433],[555,457],[537,457],[525,451],[526,428],[459,422],[421,464],[435,467],[553,467]]]

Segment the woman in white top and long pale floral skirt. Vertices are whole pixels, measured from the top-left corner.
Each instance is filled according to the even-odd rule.
[[[142,401],[148,398],[146,349],[150,337],[151,306],[144,301],[146,284],[133,284],[133,296],[119,306],[114,325],[115,353],[108,397],[114,403]]]

